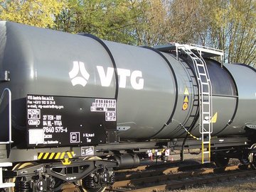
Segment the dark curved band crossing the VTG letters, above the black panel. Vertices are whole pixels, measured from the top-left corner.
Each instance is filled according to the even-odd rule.
[[[114,77],[116,79],[116,89],[115,89],[114,98],[117,100],[118,90],[119,90],[118,74],[117,74],[117,64],[114,61],[114,57],[113,57],[110,49],[107,47],[107,45],[100,38],[97,38],[95,35],[92,35],[92,34],[89,34],[89,33],[78,33],[78,35],[82,35],[82,36],[85,36],[87,38],[92,38],[93,40],[96,40],[107,51],[107,54],[110,56],[110,60],[112,61],[113,68],[114,68]]]

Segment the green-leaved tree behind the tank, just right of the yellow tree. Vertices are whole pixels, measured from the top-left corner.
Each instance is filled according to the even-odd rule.
[[[132,0],[67,0],[68,7],[56,17],[56,29],[134,44],[131,27],[136,15],[130,9],[133,3]]]

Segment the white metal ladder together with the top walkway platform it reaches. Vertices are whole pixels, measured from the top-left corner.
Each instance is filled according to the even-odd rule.
[[[176,52],[176,60],[183,52],[191,58],[194,69],[196,71],[196,79],[199,86],[199,118],[200,118],[200,133],[202,142],[202,163],[210,162],[210,135],[213,132],[213,101],[212,101],[212,86],[210,77],[204,58],[220,57],[221,67],[223,67],[223,50],[218,50],[212,47],[202,45],[181,45],[178,43],[169,43],[169,45],[159,45],[155,47],[162,52]],[[196,54],[195,54],[196,52]],[[193,103],[196,105],[196,103]],[[206,151],[205,151],[206,149]],[[205,161],[205,157],[208,161]]]

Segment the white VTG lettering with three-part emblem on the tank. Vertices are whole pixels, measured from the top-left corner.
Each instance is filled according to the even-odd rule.
[[[81,76],[78,76],[80,71]],[[114,76],[114,68],[107,67],[105,72],[104,67],[97,66],[97,72],[100,77],[101,86],[110,86],[112,78]],[[119,87],[125,88],[127,85],[127,77],[130,79],[130,83],[133,89],[143,89],[144,88],[144,79],[142,78],[142,72],[135,70],[131,72],[129,69],[120,69],[117,68],[117,74],[119,76]],[[83,62],[73,62],[73,69],[69,72],[69,76],[73,86],[82,85],[85,86],[90,77],[90,74],[85,69],[85,64]]]

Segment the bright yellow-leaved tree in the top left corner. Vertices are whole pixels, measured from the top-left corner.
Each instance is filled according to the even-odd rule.
[[[52,28],[63,6],[60,0],[0,0],[0,19]]]

